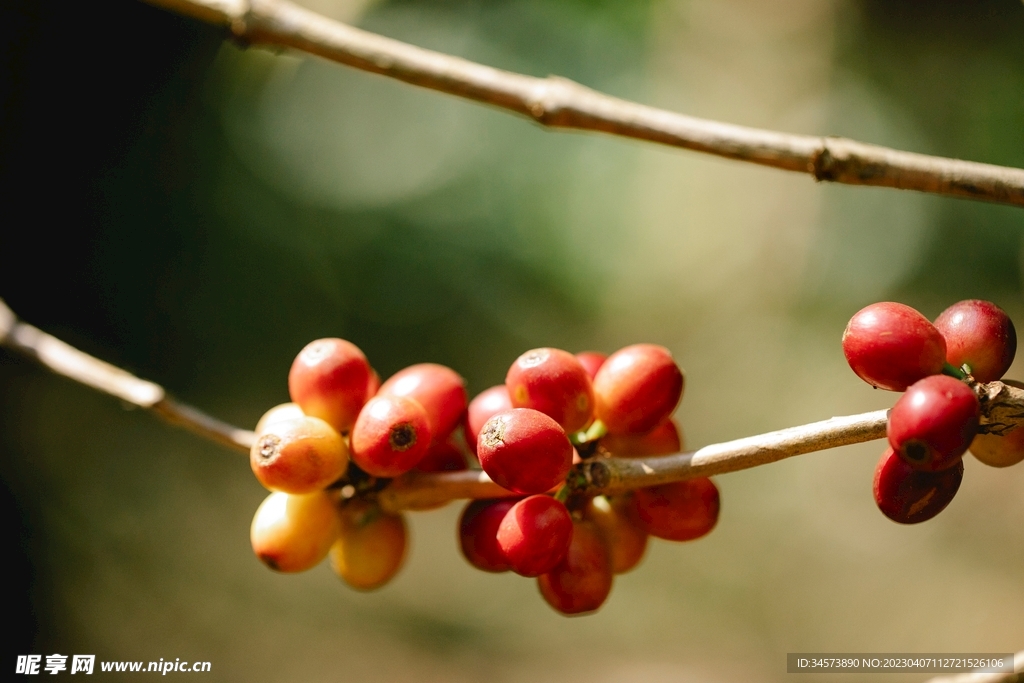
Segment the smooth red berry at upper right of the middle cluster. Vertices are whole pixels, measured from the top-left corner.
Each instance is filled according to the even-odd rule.
[[[655,344],[621,348],[594,378],[595,415],[609,434],[642,434],[664,422],[683,395],[683,373]]]

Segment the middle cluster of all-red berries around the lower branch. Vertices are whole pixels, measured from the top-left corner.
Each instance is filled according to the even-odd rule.
[[[708,478],[583,500],[558,488],[573,462],[680,452],[672,414],[682,392],[682,372],[653,344],[607,357],[554,348],[520,355],[505,384],[469,404],[466,430],[483,470],[524,498],[466,507],[459,523],[466,559],[484,571],[537,577],[548,604],[578,614],[601,606],[612,577],[640,562],[648,536],[708,533],[719,513]]]

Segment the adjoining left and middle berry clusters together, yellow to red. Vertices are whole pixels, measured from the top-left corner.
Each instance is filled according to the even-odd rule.
[[[253,519],[253,550],[279,571],[330,556],[355,588],[386,584],[404,557],[407,525],[374,495],[412,470],[479,467],[506,488],[508,498],[466,507],[463,553],[485,571],[537,577],[564,613],[599,607],[612,574],[640,561],[648,535],[687,541],[718,519],[718,489],[706,478],[582,499],[564,485],[572,464],[589,458],[681,451],[672,413],[683,374],[662,346],[608,357],[535,349],[505,384],[468,402],[450,368],[420,364],[381,384],[356,346],[321,339],[295,358],[288,386],[293,402],[260,419],[250,452],[272,492]]]

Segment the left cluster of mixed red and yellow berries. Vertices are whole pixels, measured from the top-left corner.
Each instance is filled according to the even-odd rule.
[[[296,356],[288,390],[293,402],[260,419],[249,455],[273,492],[253,518],[253,551],[279,571],[330,555],[350,586],[383,586],[401,566],[408,530],[372,494],[413,468],[466,468],[449,439],[466,412],[465,383],[450,368],[420,364],[381,384],[354,344],[318,339]]]

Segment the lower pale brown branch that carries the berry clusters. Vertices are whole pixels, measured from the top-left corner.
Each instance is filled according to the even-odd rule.
[[[48,370],[132,405],[156,413],[173,425],[248,453],[255,439],[199,409],[181,403],[159,384],[66,344],[17,319],[0,299],[0,346],[17,351]],[[1024,389],[1002,382],[976,385],[981,398],[982,431],[1005,433],[1024,422]],[[831,418],[767,434],[707,445],[692,453],[655,458],[592,458],[572,468],[566,484],[573,494],[595,496],[654,486],[670,481],[738,472],[815,451],[860,443],[886,435],[886,411]],[[514,496],[478,470],[410,472],[375,494],[389,511],[429,508],[458,499]]]

